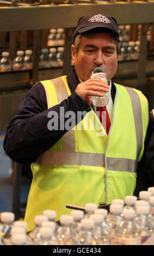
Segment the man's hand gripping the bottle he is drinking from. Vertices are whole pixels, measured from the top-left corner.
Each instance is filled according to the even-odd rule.
[[[90,78],[83,83],[79,83],[75,91],[89,106],[92,106],[93,101],[91,96],[102,97],[104,95],[103,93],[109,91],[109,86],[101,79]]]

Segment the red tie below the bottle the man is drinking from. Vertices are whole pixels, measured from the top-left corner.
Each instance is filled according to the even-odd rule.
[[[106,107],[97,107],[96,111],[100,112],[100,121],[108,134],[109,129],[110,129],[110,119],[109,119],[109,114],[108,114],[107,108]]]

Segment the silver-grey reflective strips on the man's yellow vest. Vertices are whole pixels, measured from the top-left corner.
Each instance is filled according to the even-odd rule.
[[[60,77],[61,78],[61,77]],[[57,92],[58,102],[67,99],[68,93],[66,90],[65,83],[62,79],[56,78],[51,80],[54,83],[54,87]],[[64,89],[64,88],[65,89]],[[141,106],[139,96],[136,93],[134,98],[134,90],[132,88],[126,88],[132,101],[134,120],[135,120],[135,129],[137,131],[137,147],[140,153],[142,145],[142,129],[138,127],[138,124],[141,124],[142,127],[142,118],[141,118]],[[137,109],[140,109],[140,114],[138,114]],[[138,134],[139,133],[139,134]],[[71,142],[71,143],[70,143]],[[138,153],[138,157],[139,157]],[[120,159],[107,157],[107,169],[108,170],[117,170],[122,172],[135,172],[136,162],[132,159]],[[81,165],[81,166],[96,166],[96,167],[105,167],[104,154],[95,154],[95,153],[84,153],[75,151],[75,131],[70,130],[65,133],[63,136],[63,151],[45,151],[42,153],[38,160],[38,164],[52,164],[52,165]]]

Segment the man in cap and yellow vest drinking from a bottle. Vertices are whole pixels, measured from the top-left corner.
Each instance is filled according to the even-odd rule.
[[[75,69],[32,87],[8,126],[6,153],[16,162],[32,162],[25,216],[28,230],[34,228],[34,216],[43,210],[56,210],[59,220],[70,212],[67,203],[109,204],[134,192],[148,105],[138,90],[111,81],[117,69],[118,44],[113,17],[81,17],[71,48]],[[108,84],[90,78],[97,67],[106,69]],[[103,92],[109,92],[109,133],[97,118],[91,99]]]

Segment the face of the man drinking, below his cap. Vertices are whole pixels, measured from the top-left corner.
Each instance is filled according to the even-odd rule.
[[[117,70],[116,39],[109,33],[94,34],[91,37],[83,36],[79,43],[78,52],[72,45],[72,58],[75,63],[77,76],[84,82],[97,68],[106,68],[108,82]]]

